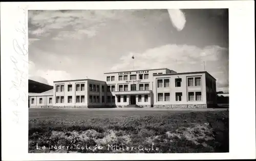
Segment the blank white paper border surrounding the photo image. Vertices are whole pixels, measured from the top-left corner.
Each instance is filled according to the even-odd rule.
[[[28,153],[27,10],[229,9],[229,153]],[[1,2],[3,160],[255,158],[254,1]],[[210,30],[210,29],[209,29]]]

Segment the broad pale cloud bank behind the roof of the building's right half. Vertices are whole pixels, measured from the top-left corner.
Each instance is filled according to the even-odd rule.
[[[132,59],[132,56],[135,59]],[[194,72],[203,71],[204,62],[206,71],[219,82],[218,87],[228,89],[228,49],[216,45],[199,48],[167,44],[147,49],[142,53],[131,52],[122,56],[111,70],[169,68],[177,72]]]

